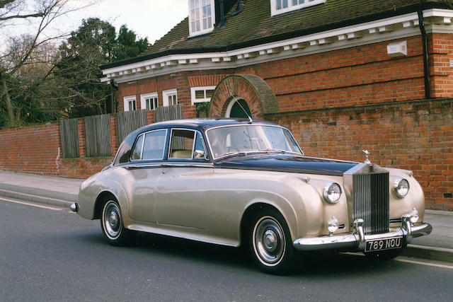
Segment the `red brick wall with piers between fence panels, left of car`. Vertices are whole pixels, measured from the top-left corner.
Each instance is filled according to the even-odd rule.
[[[98,173],[118,149],[116,115],[110,115],[112,156],[88,158],[85,151],[84,120],[78,122],[79,158],[62,158],[59,123],[38,124],[14,129],[0,129],[0,170],[38,175],[88,178]],[[154,111],[147,112],[147,122],[154,122]]]

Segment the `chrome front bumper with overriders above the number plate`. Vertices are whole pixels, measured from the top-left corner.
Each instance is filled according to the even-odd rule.
[[[411,225],[407,217],[403,216],[401,228],[397,231],[382,233],[377,235],[364,235],[362,228],[362,219],[354,221],[355,232],[348,235],[333,235],[314,238],[299,238],[294,240],[294,248],[297,250],[348,250],[363,251],[365,243],[369,240],[394,238],[403,236],[406,243],[411,243],[412,238],[425,236],[431,233],[432,226],[430,223],[422,223],[418,226]]]

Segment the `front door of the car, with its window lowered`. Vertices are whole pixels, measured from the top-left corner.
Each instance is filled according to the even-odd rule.
[[[156,192],[159,224],[206,228],[206,184],[212,165],[205,154],[200,132],[171,129],[167,161]]]

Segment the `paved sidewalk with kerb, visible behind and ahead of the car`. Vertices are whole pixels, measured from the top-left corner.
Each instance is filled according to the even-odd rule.
[[[82,182],[0,170],[0,197],[69,208]],[[453,262],[453,212],[426,210],[424,220],[432,225],[432,233],[414,238],[403,255]]]

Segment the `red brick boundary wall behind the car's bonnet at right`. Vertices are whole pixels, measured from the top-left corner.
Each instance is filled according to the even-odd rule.
[[[309,156],[412,170],[427,207],[453,210],[453,99],[267,115],[288,127]]]

